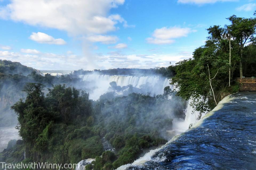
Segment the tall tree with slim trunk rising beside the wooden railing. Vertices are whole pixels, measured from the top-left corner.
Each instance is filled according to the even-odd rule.
[[[232,15],[227,18],[230,22],[230,31],[233,34],[235,41],[239,44],[240,48],[240,78],[243,77],[243,50],[247,40],[251,40],[255,35],[256,18],[241,18],[236,15]]]

